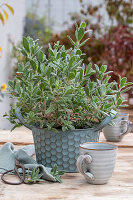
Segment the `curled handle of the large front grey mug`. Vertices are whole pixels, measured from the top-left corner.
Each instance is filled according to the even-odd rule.
[[[80,155],[77,159],[77,168],[78,171],[89,178],[90,180],[94,180],[94,175],[87,171],[86,163],[90,164],[92,162],[92,157],[90,155]]]

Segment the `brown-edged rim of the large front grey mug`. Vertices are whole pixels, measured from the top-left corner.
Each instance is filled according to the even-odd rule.
[[[83,147],[82,145],[85,145],[85,144],[108,144],[108,145],[111,145],[112,146],[112,149],[89,149],[89,148],[86,148],[86,147]],[[92,150],[92,151],[106,151],[106,150],[114,150],[114,149],[118,149],[118,146],[117,145],[114,145],[114,144],[110,144],[110,143],[106,143],[106,142],[86,142],[86,143],[83,143],[83,144],[80,144],[80,148],[82,149],[87,149],[87,150]]]

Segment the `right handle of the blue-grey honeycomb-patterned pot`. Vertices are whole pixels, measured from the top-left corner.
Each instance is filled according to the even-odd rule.
[[[110,115],[108,115],[97,127],[94,128],[94,131],[100,131],[105,126],[107,126],[111,120],[116,116],[117,112],[115,110],[111,110]]]

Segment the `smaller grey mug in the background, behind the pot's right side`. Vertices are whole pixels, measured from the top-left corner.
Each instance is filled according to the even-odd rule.
[[[109,142],[119,142],[132,130],[132,123],[129,121],[128,113],[119,113],[116,119],[113,119],[113,125],[107,125],[103,129],[103,134]]]

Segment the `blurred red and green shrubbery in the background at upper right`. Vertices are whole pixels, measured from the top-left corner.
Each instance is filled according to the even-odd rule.
[[[81,47],[84,63],[88,60],[98,65],[107,64],[113,71],[111,80],[118,80],[118,74],[133,81],[133,3],[132,0],[106,0],[91,3],[80,0],[81,10],[72,14],[73,22],[84,20],[87,28],[92,30],[91,38]],[[104,13],[104,14],[103,14]],[[108,23],[105,20],[108,18]],[[74,23],[61,34],[54,34],[51,43],[60,41],[70,48],[67,34],[74,40]],[[126,49],[126,50],[125,50]],[[129,96],[132,96],[129,91]]]

